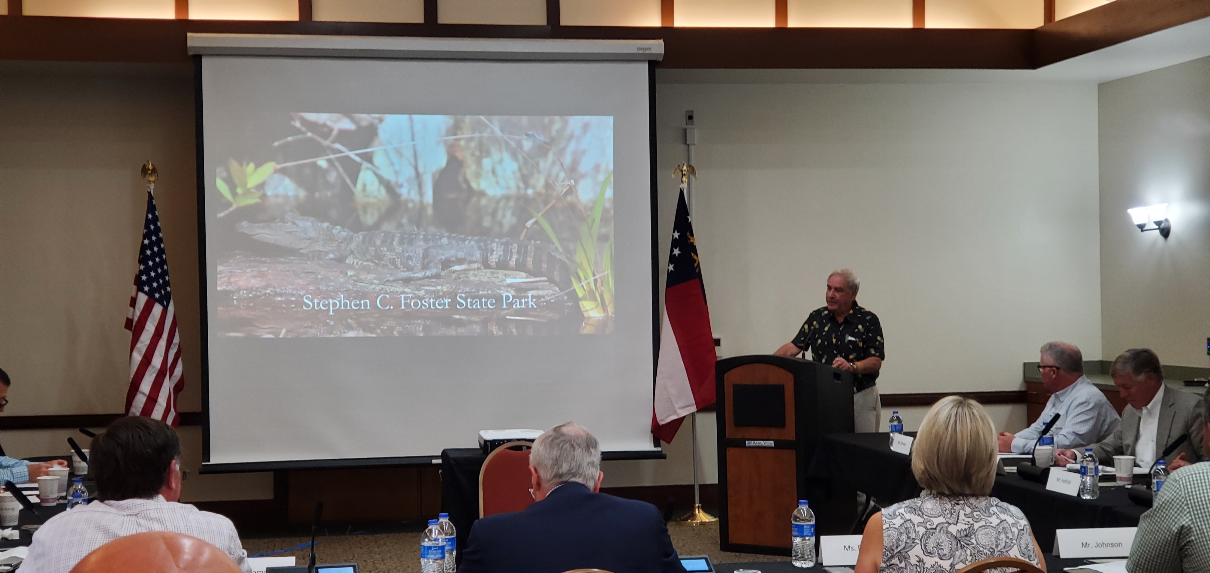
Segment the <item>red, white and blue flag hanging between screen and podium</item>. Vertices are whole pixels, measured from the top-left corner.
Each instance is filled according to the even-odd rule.
[[[714,334],[697,240],[681,189],[664,285],[651,432],[672,443],[684,418],[714,403]]]

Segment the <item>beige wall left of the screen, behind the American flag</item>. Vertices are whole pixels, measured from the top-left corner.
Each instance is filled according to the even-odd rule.
[[[201,409],[197,199],[190,67],[0,67],[0,367],[7,416],[122,412],[122,325],[145,212],[156,190],[180,327],[184,412]],[[2,416],[2,414],[0,414]],[[183,428],[201,465],[201,428]],[[11,455],[67,452],[73,430],[8,431]],[[267,492],[267,493],[266,493]],[[269,474],[198,476],[186,499],[272,497]]]

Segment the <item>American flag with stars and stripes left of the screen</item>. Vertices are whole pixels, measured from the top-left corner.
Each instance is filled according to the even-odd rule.
[[[168,285],[168,257],[163,252],[160,216],[150,190],[126,330],[131,331],[131,388],[126,391],[126,413],[155,418],[175,428],[180,423],[177,395],[185,380],[180,377],[180,336]]]

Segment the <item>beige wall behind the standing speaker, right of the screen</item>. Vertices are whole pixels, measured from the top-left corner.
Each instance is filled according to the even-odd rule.
[[[695,110],[693,223],[726,355],[790,340],[841,267],[882,320],[883,392],[1016,390],[1050,339],[1101,354],[1094,85],[703,76],[657,90],[658,171],[684,160]],[[663,231],[676,189],[659,184]]]

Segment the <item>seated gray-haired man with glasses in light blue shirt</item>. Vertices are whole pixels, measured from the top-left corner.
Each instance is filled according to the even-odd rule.
[[[1047,408],[1033,425],[1020,432],[999,432],[1001,452],[1032,452],[1042,426],[1055,414],[1060,414],[1050,430],[1055,449],[1082,448],[1113,434],[1120,418],[1110,399],[1084,376],[1084,355],[1074,344],[1051,342],[1043,345],[1038,369],[1042,385],[1050,392]]]

